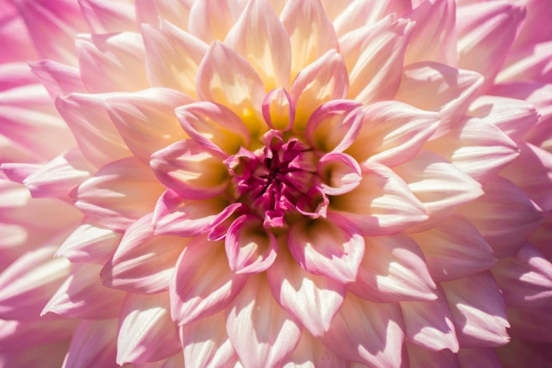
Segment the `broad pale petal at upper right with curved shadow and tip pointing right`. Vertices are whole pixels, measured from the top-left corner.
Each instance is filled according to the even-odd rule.
[[[441,114],[441,124],[434,135],[438,137],[460,121],[482,84],[479,73],[426,61],[405,66],[395,99]]]

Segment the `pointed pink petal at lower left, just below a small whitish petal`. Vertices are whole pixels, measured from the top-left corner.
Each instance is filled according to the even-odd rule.
[[[49,312],[63,318],[109,319],[118,317],[126,293],[104,288],[99,281],[99,264],[74,266],[41,316]]]

